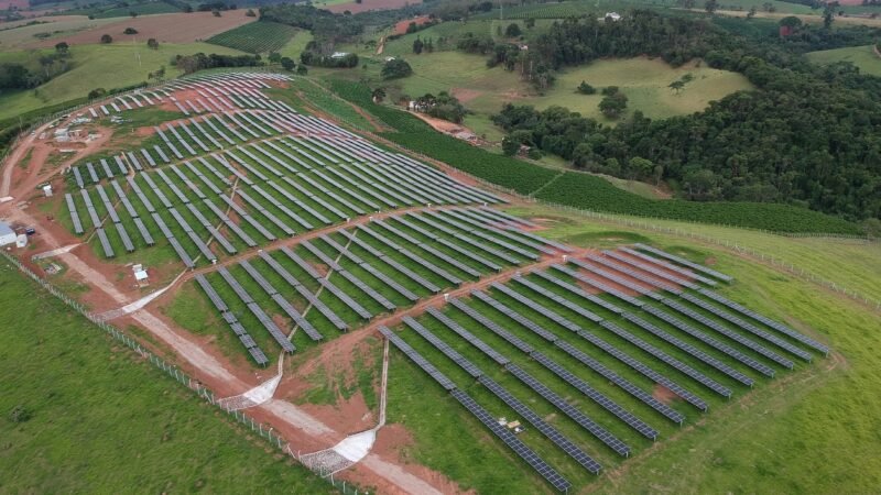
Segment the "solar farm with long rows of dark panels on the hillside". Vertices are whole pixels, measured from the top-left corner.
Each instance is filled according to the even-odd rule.
[[[829,354],[729,299],[737,274],[547,239],[512,198],[267,96],[290,77],[184,78],[89,107],[178,117],[65,174],[69,235],[100,263],[168,253],[174,288],[207,301],[249,373],[381,339],[460,427],[567,492]]]

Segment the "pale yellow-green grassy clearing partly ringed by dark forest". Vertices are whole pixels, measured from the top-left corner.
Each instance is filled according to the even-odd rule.
[[[426,92],[436,95],[440,91],[453,91],[465,107],[474,112],[468,116],[465,123],[490,141],[501,140],[502,133],[494,128],[489,117],[498,113],[507,102],[532,105],[539,109],[554,105],[563,106],[603,123],[614,124],[617,121],[606,119],[599,111],[601,95],[584,96],[575,92],[575,88],[583,80],[597,88],[620,87],[629,98],[628,112],[640,110],[652,119],[689,114],[703,110],[710,101],[719,100],[731,92],[752,89],[752,85],[742,75],[713,69],[699,61],[682,67],[672,67],[661,59],[641,57],[596,61],[583,67],[566,69],[561,72],[554,85],[541,95],[527,82],[522,81],[516,73],[507,72],[502,67],[487,68],[486,57],[482,55],[470,55],[454,50],[421,55],[412,53],[416,35],[434,40],[440,36],[455,38],[464,33],[494,36],[497,25],[502,24],[507,22],[479,20],[465,24],[442,23],[387,43],[382,55],[376,55],[372,50],[358,51],[358,47],[350,46],[347,50],[358,51],[367,67],[366,70],[316,74],[330,74],[329,77],[339,78],[367,77],[371,86],[385,87],[391,101],[401,97],[416,98]],[[536,26],[533,31],[530,35],[541,31],[541,26]],[[406,59],[413,67],[413,75],[392,81],[381,80],[379,72],[385,56]],[[675,94],[668,88],[671,82],[686,74],[690,74],[694,80],[688,82],[685,89]]]

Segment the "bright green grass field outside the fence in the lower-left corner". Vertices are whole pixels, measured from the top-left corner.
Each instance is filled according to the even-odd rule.
[[[329,492],[7,263],[0,318],[0,492]]]

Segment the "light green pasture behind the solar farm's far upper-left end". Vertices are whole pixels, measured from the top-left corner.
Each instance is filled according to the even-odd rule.
[[[161,66],[166,77],[181,74],[170,65],[175,55],[195,53],[240,54],[241,52],[206,43],[161,44],[159,50],[148,50],[145,44],[124,43],[111,45],[78,45],[70,48],[74,67],[33,90],[0,96],[0,119],[36,110],[45,106],[85,98],[96,88],[121,88],[146,80],[149,73]],[[28,52],[26,57],[37,58],[41,52]],[[22,52],[0,53],[0,62],[22,59]],[[112,76],[112,77],[110,77]]]

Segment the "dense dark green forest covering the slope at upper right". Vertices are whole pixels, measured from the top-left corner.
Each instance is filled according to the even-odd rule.
[[[760,44],[706,21],[645,11],[617,23],[566,21],[536,44],[555,67],[646,53],[673,64],[703,57],[759,90],[686,117],[652,121],[635,112],[616,128],[559,107],[507,106],[494,121],[509,131],[508,150],[526,144],[595,172],[664,178],[688,199],[786,201],[879,218],[881,79],[850,64],[806,63],[801,51],[863,34],[822,31],[802,26],[792,40]]]

